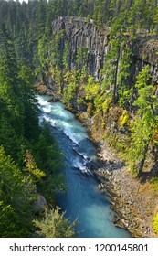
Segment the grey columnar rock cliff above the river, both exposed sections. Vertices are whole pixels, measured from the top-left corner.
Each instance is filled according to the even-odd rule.
[[[79,47],[88,48],[87,70],[96,80],[101,80],[100,69],[105,64],[105,57],[110,50],[110,27],[96,27],[92,20],[84,17],[58,17],[52,23],[52,35],[64,31],[60,42],[60,53],[63,54],[66,41],[70,50],[70,69],[77,67],[76,58]],[[158,41],[153,37],[139,37],[129,45],[132,48],[132,65],[129,83],[142,68],[149,64],[153,82],[158,84]],[[121,49],[123,53],[123,50]],[[121,57],[121,56],[120,56]],[[118,71],[116,72],[119,74]]]

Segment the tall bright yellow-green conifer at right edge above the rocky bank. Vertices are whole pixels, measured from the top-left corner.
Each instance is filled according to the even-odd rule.
[[[129,150],[129,161],[132,171],[139,176],[142,174],[143,165],[152,141],[152,134],[157,122],[155,109],[158,104],[153,94],[153,85],[148,82],[151,76],[149,67],[146,66],[137,76],[135,87],[138,89],[138,98],[133,102],[138,107],[132,126],[132,144]]]

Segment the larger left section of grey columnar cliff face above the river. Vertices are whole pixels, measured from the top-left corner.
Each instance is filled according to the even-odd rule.
[[[76,56],[79,47],[88,48],[87,69],[90,75],[100,80],[100,69],[103,68],[105,56],[109,50],[108,37],[110,28],[107,27],[103,32],[93,25],[92,20],[86,21],[81,17],[59,17],[52,23],[52,33],[63,30],[65,36],[62,38],[61,52],[65,41],[70,47],[70,69],[76,67]]]

